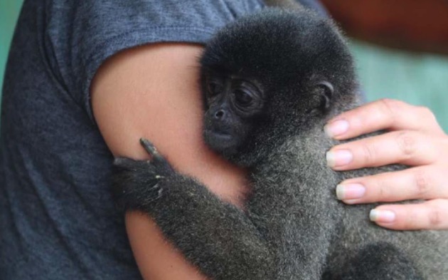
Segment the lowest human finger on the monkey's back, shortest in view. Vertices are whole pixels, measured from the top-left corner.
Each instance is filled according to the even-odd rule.
[[[370,220],[388,229],[448,229],[448,199],[376,207]]]

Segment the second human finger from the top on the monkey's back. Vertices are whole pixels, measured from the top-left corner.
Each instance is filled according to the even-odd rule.
[[[441,160],[447,147],[444,138],[428,137],[410,130],[395,131],[363,138],[332,147],[326,153],[329,167],[334,170],[353,170],[393,163],[428,165]]]

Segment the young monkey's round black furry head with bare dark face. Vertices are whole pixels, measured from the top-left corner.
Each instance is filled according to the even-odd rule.
[[[269,9],[225,26],[201,57],[204,138],[242,166],[355,99],[353,60],[328,19]]]

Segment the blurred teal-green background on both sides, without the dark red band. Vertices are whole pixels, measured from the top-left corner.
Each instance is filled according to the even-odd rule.
[[[22,0],[0,0],[0,85]],[[448,56],[410,53],[351,41],[368,100],[396,98],[433,110],[448,131]]]

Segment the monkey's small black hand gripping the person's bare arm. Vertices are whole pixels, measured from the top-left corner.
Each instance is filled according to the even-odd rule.
[[[148,209],[161,197],[164,189],[160,180],[176,175],[169,162],[156,147],[144,138],[140,143],[151,155],[151,160],[132,160],[117,157],[114,160],[112,187],[120,209]]]

